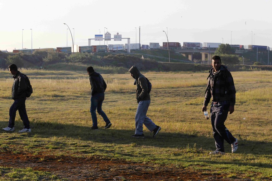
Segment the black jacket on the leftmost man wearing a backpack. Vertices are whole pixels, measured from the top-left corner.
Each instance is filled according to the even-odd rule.
[[[18,71],[13,78],[12,99],[26,98],[26,77]]]

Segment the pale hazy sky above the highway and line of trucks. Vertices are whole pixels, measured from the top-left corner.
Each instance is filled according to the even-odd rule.
[[[223,42],[247,47],[252,42],[272,47],[271,8],[271,0],[0,0],[0,50],[31,49],[30,29],[33,49],[65,47],[67,26],[63,23],[79,46],[88,45],[99,30],[104,34],[104,27],[112,38],[118,32],[139,43],[141,26],[141,44],[162,45],[167,42],[163,30],[168,30],[169,42],[181,44]],[[99,41],[91,44],[99,45]]]

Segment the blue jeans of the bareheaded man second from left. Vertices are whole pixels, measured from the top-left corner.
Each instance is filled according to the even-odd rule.
[[[91,97],[90,112],[91,112],[91,115],[92,115],[93,126],[94,127],[97,126],[97,117],[96,117],[96,112],[95,112],[96,109],[97,109],[97,113],[102,116],[103,120],[106,123],[110,123],[110,120],[108,119],[107,115],[102,110],[102,103],[103,103],[104,99],[105,99],[105,94],[104,93],[95,94],[95,95],[92,95],[92,97]]]

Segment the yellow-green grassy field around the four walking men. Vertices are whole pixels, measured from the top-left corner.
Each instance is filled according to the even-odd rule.
[[[136,163],[174,166],[226,179],[272,179],[272,72],[232,72],[236,106],[225,122],[238,138],[234,154],[225,142],[226,155],[209,155],[215,149],[212,128],[201,112],[207,72],[146,72],[152,83],[147,116],[161,131],[157,137],[144,127],[144,139],[132,138],[137,102],[129,73],[102,74],[107,82],[103,110],[112,122],[110,129],[98,115],[98,131],[92,125],[90,83],[87,72],[22,70],[30,77],[33,94],[26,101],[32,132],[23,128],[19,114],[15,132],[0,131],[0,154],[56,155],[126,160]],[[0,128],[7,126],[12,76],[0,71]],[[1,166],[1,164],[0,164]],[[0,167],[3,180],[60,179],[30,168]],[[38,179],[37,179],[38,178]],[[40,179],[39,179],[40,178]]]

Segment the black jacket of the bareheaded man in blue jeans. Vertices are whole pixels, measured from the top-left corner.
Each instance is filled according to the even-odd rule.
[[[105,92],[107,84],[98,72],[91,73],[89,75],[89,80],[91,84],[91,95]]]

